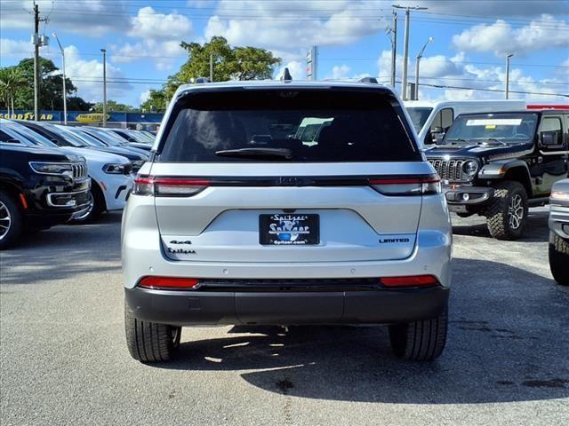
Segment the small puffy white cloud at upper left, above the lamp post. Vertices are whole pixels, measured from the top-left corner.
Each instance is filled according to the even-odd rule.
[[[150,6],[139,9],[138,14],[131,18],[131,25],[129,36],[153,40],[176,38],[180,41],[192,33],[192,23],[184,15],[156,13]]]

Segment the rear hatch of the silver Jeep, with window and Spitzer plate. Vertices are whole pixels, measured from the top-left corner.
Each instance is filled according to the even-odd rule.
[[[438,185],[404,117],[377,87],[189,91],[135,191],[172,260],[403,259]]]

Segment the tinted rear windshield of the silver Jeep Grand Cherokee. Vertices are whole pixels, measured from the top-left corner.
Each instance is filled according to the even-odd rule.
[[[156,160],[421,161],[401,107],[390,96],[381,91],[306,90],[188,95],[172,112]],[[271,150],[280,155],[267,154]]]

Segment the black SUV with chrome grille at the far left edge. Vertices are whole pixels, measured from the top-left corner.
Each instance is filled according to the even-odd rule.
[[[84,214],[90,186],[83,157],[0,143],[0,249],[10,247],[22,231]]]

